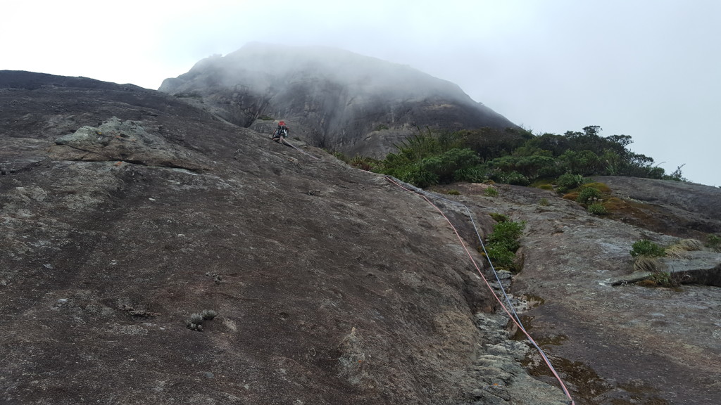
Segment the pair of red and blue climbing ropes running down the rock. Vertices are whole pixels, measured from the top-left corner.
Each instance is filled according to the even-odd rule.
[[[433,208],[435,208],[435,210],[437,210],[438,213],[440,213],[441,216],[443,216],[444,219],[446,219],[446,222],[448,222],[448,225],[450,225],[451,228],[453,229],[454,233],[456,233],[456,236],[458,237],[459,242],[461,243],[461,246],[463,246],[464,251],[466,251],[466,254],[468,255],[469,259],[471,259],[471,262],[473,263],[474,267],[476,268],[476,271],[477,271],[478,274],[481,276],[482,280],[485,282],[486,286],[488,287],[488,289],[489,289],[490,292],[492,293],[493,297],[496,299],[496,301],[498,301],[498,303],[500,304],[501,308],[503,308],[503,311],[505,311],[505,313],[508,314],[508,317],[510,318],[510,320],[513,321],[513,323],[516,324],[516,326],[518,326],[518,329],[521,330],[521,331],[523,332],[523,334],[526,335],[526,338],[528,339],[528,342],[531,342],[531,344],[533,344],[534,347],[536,347],[536,350],[539,352],[539,354],[541,355],[541,357],[543,357],[544,362],[546,362],[546,365],[548,365],[549,370],[551,370],[551,373],[553,373],[554,377],[558,380],[558,382],[559,382],[559,384],[560,384],[560,386],[561,386],[561,389],[563,390],[563,393],[565,393],[565,395],[568,397],[568,399],[570,399],[571,405],[575,405],[575,402],[573,401],[573,399],[572,399],[572,397],[571,397],[571,394],[568,392],[568,388],[566,388],[565,383],[563,383],[562,378],[561,378],[560,375],[558,375],[558,373],[556,372],[556,369],[555,369],[555,368],[553,367],[553,365],[551,364],[551,361],[550,361],[549,358],[547,357],[546,353],[544,353],[544,351],[541,349],[541,347],[539,347],[539,345],[536,343],[536,341],[534,340],[534,338],[532,338],[531,335],[528,334],[528,331],[526,331],[526,329],[523,327],[523,324],[521,323],[521,319],[518,317],[518,313],[516,313],[516,310],[513,308],[513,305],[511,305],[511,303],[510,303],[510,298],[508,298],[508,294],[505,293],[505,289],[503,288],[503,285],[502,285],[501,282],[500,282],[500,278],[498,277],[498,274],[497,274],[497,272],[495,271],[495,267],[493,267],[493,264],[491,263],[491,259],[490,259],[490,257],[488,257],[488,253],[486,252],[485,244],[483,243],[483,239],[481,238],[480,233],[478,232],[478,228],[477,228],[476,223],[475,223],[475,221],[474,221],[474,219],[473,219],[473,215],[472,215],[472,213],[471,213],[471,210],[469,210],[469,208],[468,208],[465,204],[463,204],[463,203],[459,203],[459,202],[457,202],[457,201],[448,200],[448,199],[446,199],[446,198],[443,198],[443,197],[440,197],[440,196],[437,196],[437,195],[431,195],[430,193],[425,192],[425,191],[420,190],[420,189],[417,189],[417,187],[413,187],[413,186],[411,186],[410,184],[404,183],[404,182],[400,181],[399,179],[396,179],[395,177],[386,176],[386,180],[389,181],[389,182],[391,182],[391,183],[393,183],[393,184],[395,184],[395,185],[397,185],[398,187],[402,188],[403,190],[406,190],[407,192],[415,192],[415,193],[419,194],[421,197],[423,197],[423,199],[424,199],[426,202],[428,202],[428,204],[430,204]],[[405,187],[404,187],[404,185],[402,185],[401,183],[402,183],[402,184],[405,184]],[[412,190],[412,189],[415,189],[415,190]],[[469,217],[471,218],[471,222],[473,223],[473,228],[474,228],[475,231],[476,231],[476,235],[478,236],[478,240],[480,241],[481,246],[483,247],[483,252],[485,252],[485,254],[486,254],[486,258],[488,259],[488,263],[490,264],[491,270],[493,271],[493,274],[495,275],[495,278],[496,278],[496,280],[498,281],[498,285],[500,285],[500,290],[503,292],[503,295],[505,295],[505,299],[506,299],[506,302],[508,303],[508,306],[510,307],[510,310],[503,304],[503,301],[501,301],[500,297],[498,297],[498,295],[495,293],[495,290],[493,290],[492,286],[490,285],[490,282],[488,282],[487,278],[485,277],[485,275],[484,275],[483,272],[481,271],[480,267],[479,267],[478,264],[476,263],[476,260],[473,258],[473,255],[471,254],[471,252],[469,252],[468,248],[466,247],[466,244],[465,244],[464,241],[463,241],[463,238],[461,238],[461,234],[458,232],[458,230],[457,230],[456,227],[453,225],[453,223],[451,223],[451,220],[449,220],[448,217],[446,216],[446,214],[443,213],[443,211],[441,210],[441,208],[438,208],[437,205],[433,204],[433,202],[430,201],[430,199],[428,199],[428,197],[427,197],[426,195],[430,195],[431,197],[435,197],[435,198],[438,198],[438,199],[440,199],[440,200],[445,200],[445,201],[447,201],[447,202],[449,202],[449,203],[454,203],[454,204],[456,204],[456,205],[462,205],[462,206],[466,209],[466,212],[468,213]],[[511,314],[511,312],[513,312],[513,314]]]

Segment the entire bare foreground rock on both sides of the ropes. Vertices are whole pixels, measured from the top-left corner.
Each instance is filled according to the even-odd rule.
[[[0,72],[1,403],[568,404],[422,197],[186,101]],[[612,282],[634,241],[705,235],[663,229],[673,218],[705,210],[721,229],[721,190],[670,184],[707,197],[637,196],[600,218],[544,190],[435,189],[482,235],[489,213],[526,221],[523,270],[503,283],[576,404],[721,395],[719,288]],[[433,201],[482,263],[464,210]],[[637,226],[650,215],[665,219]]]

